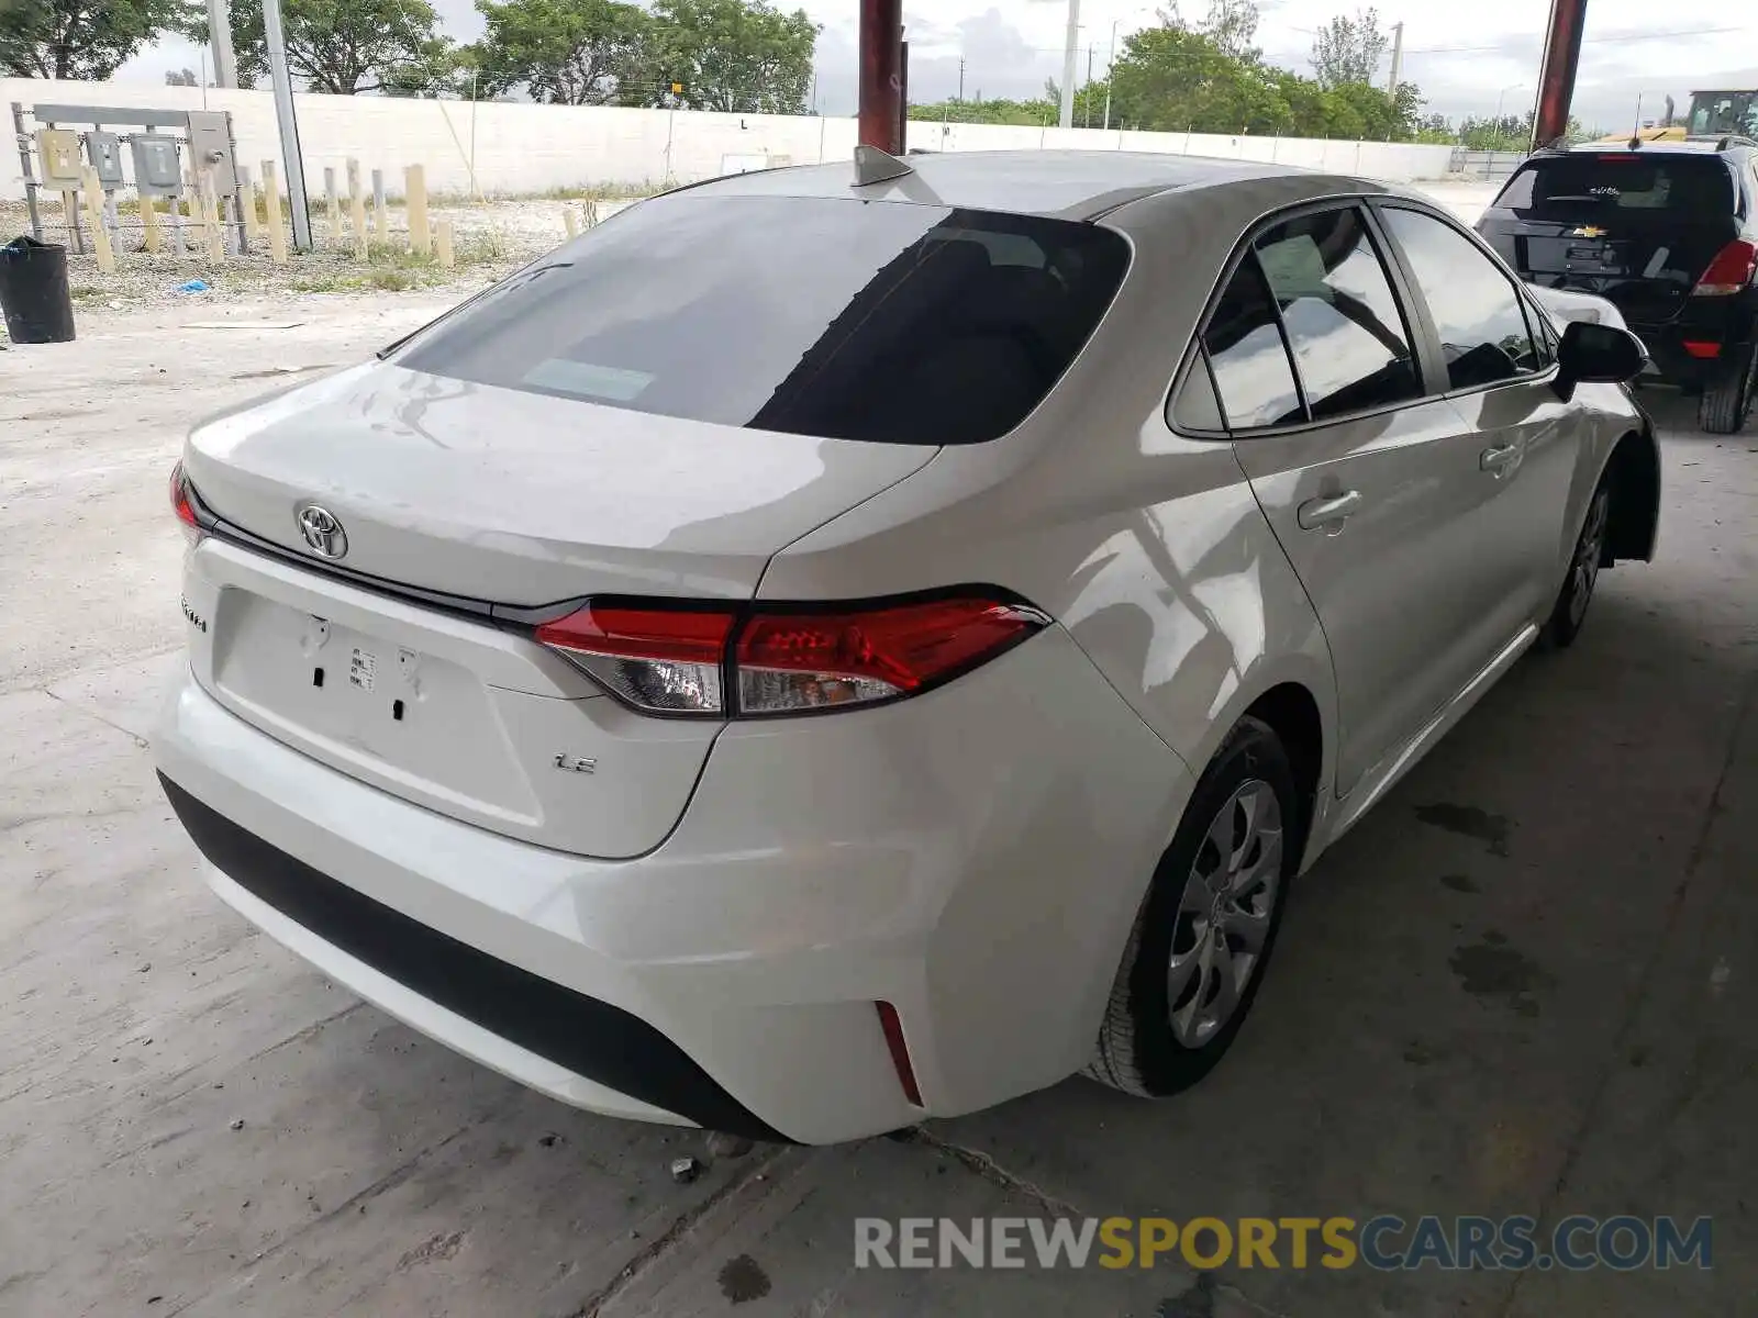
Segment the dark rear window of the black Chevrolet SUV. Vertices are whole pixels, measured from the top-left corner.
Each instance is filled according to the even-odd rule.
[[[1644,156],[1640,151],[1529,160],[1496,206],[1544,214],[1668,211],[1733,214],[1733,177],[1719,156]]]

